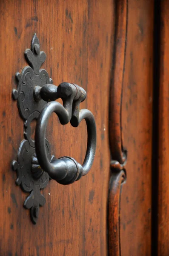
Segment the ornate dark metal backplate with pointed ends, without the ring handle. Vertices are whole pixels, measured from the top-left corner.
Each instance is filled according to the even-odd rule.
[[[46,102],[43,99],[38,102],[35,101],[33,92],[36,85],[42,87],[45,84],[52,84],[52,79],[49,78],[47,71],[40,69],[46,60],[46,54],[40,51],[40,44],[36,34],[32,39],[31,49],[26,49],[25,51],[25,58],[30,66],[24,67],[21,73],[16,73],[17,89],[12,91],[13,99],[17,100],[20,116],[25,121],[25,140],[20,143],[17,161],[13,160],[12,167],[17,172],[16,184],[20,185],[24,192],[30,192],[24,202],[24,207],[30,209],[31,220],[36,224],[39,207],[46,202],[46,199],[40,193],[40,189],[46,187],[49,175],[36,162],[35,144],[31,138],[30,126],[32,120],[38,118]],[[49,160],[51,160],[48,140],[46,140],[46,151]],[[33,169],[32,164],[34,166]]]

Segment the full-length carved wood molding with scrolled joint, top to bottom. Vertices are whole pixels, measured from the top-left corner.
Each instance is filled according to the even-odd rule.
[[[127,151],[123,146],[122,99],[125,69],[128,0],[115,3],[115,42],[113,49],[113,69],[110,84],[109,139],[111,150],[111,178],[108,201],[109,256],[120,256],[120,195],[126,180]]]

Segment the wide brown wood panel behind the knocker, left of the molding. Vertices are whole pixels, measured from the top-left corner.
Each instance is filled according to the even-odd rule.
[[[114,26],[112,0],[0,1],[0,255],[106,255],[109,186],[109,68]],[[34,33],[46,52],[45,68],[54,84],[70,81],[87,91],[82,108],[94,113],[97,150],[91,172],[69,186],[50,181],[36,226],[23,208],[26,194],[15,186],[11,161],[23,139],[23,120],[11,99],[15,73],[26,65],[24,51]],[[55,115],[48,139],[56,157],[80,163],[86,128],[61,126]],[[49,195],[50,193],[50,195]]]

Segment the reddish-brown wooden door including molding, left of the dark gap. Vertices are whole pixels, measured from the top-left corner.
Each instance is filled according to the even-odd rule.
[[[151,255],[153,6],[152,0],[0,1],[0,255]],[[36,225],[11,169],[24,131],[11,92],[34,33],[47,55],[42,67],[54,84],[86,90],[80,106],[97,126],[91,171],[67,186],[51,180]],[[85,122],[63,126],[52,114],[46,137],[55,157],[83,163]]]

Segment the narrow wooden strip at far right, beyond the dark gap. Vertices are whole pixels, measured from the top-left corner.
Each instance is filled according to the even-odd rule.
[[[160,3],[158,255],[169,255],[169,2]]]

